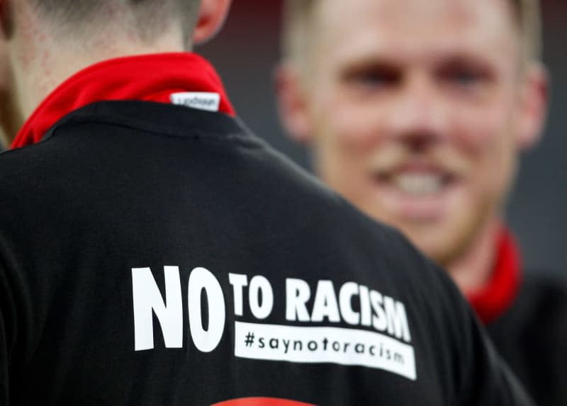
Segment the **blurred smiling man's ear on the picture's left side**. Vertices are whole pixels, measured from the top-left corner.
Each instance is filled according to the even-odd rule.
[[[308,96],[298,70],[291,64],[280,64],[274,72],[274,81],[281,123],[294,140],[310,142],[313,128]]]

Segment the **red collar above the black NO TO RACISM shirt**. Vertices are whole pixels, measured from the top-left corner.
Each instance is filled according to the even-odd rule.
[[[171,95],[210,92],[220,95],[219,111],[234,115],[215,69],[192,53],[122,57],[94,64],[64,81],[38,106],[13,140],[18,148],[39,142],[71,111],[104,100],[171,103]]]

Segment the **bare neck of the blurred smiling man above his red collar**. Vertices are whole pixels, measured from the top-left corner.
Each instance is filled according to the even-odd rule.
[[[447,271],[463,293],[480,290],[493,274],[501,222],[490,219],[463,255],[447,266]]]

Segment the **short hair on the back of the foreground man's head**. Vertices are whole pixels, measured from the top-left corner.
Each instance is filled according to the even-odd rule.
[[[81,33],[89,24],[120,21],[137,37],[151,42],[169,23],[179,23],[184,40],[191,38],[200,0],[30,0],[41,16],[67,33]]]

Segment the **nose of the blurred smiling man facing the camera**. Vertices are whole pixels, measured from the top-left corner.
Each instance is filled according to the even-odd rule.
[[[449,126],[447,101],[426,74],[413,74],[400,89],[391,112],[390,132],[415,149],[444,139]]]

